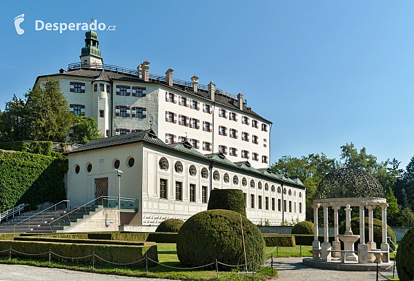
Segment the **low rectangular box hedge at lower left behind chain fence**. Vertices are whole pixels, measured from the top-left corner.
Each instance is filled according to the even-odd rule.
[[[45,255],[34,255],[32,258],[48,259],[49,250],[64,257],[77,258],[91,255],[95,251],[95,255],[99,258],[108,260],[109,262],[128,263],[141,260],[148,255],[148,258],[158,262],[157,244],[148,243],[146,246],[135,245],[110,245],[110,244],[77,244],[77,243],[55,243],[55,242],[33,242],[33,241],[0,241],[0,255],[8,256],[10,247],[21,253],[46,253]],[[2,252],[1,251],[5,251]],[[12,251],[12,257],[27,258],[27,255],[19,254]],[[62,260],[57,255],[50,255],[52,260]],[[67,260],[73,262],[72,259]],[[95,257],[95,264],[107,264],[99,258]],[[65,260],[65,259],[63,259]],[[76,260],[79,263],[92,262],[92,256],[89,258]],[[145,267],[145,260],[130,264],[131,267]],[[148,267],[155,267],[157,264],[148,261]]]

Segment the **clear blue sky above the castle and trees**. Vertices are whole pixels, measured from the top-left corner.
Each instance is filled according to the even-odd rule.
[[[270,162],[339,158],[353,142],[405,168],[414,155],[414,1],[0,1],[0,108],[39,75],[79,61],[90,22],[104,63],[197,75],[273,122]],[[14,18],[24,14],[23,35]]]

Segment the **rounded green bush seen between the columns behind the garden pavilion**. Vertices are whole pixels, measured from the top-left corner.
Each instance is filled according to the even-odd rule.
[[[373,219],[373,228],[374,228],[374,242],[377,243],[377,249],[380,249],[381,243],[382,243],[382,222],[378,219]],[[351,230],[354,234],[359,234],[359,217],[354,217],[351,219]],[[368,236],[368,217],[365,218],[365,243],[368,242],[369,236]],[[342,222],[341,226],[339,226],[339,233],[344,234],[345,232],[345,222]],[[391,229],[390,226],[386,226],[386,235],[390,237],[391,241],[394,242],[394,244],[397,244],[397,239],[395,238],[395,233],[393,229]],[[355,242],[355,244],[358,244],[359,240]],[[394,245],[391,243],[390,248],[395,250]],[[357,249],[357,248],[355,248]]]

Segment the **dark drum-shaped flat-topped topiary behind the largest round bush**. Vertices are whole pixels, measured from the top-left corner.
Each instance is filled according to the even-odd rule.
[[[208,200],[207,210],[230,210],[246,216],[246,202],[239,189],[213,189]]]

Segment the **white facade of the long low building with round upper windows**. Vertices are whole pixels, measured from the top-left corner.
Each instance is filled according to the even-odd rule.
[[[139,133],[131,136],[136,134]],[[115,142],[119,137],[111,137],[108,141]],[[248,168],[249,162],[244,162],[247,166],[241,167],[228,162],[221,154],[204,156],[197,155],[193,148],[187,147],[188,152],[177,148],[183,148],[185,144],[177,144],[174,148],[137,141],[96,148],[93,142],[88,144],[91,150],[86,145],[84,151],[68,153],[68,200],[71,206],[94,200],[96,179],[101,177],[108,177],[108,196],[117,197],[119,179],[114,165],[119,160],[119,169],[124,172],[121,197],[139,201],[139,212],[134,218],[138,225],[153,226],[169,218],[187,220],[207,209],[213,188],[241,189],[246,196],[246,215],[255,224],[279,225],[282,217],[285,222],[305,220],[305,187],[284,175],[270,175],[268,171]],[[131,158],[134,158],[133,166],[129,164]],[[168,163],[168,168],[162,163]],[[89,164],[92,165],[90,172]],[[211,175],[213,178],[210,179]],[[177,183],[181,185],[180,195],[177,195]],[[283,198],[282,184],[286,191]],[[283,208],[284,201],[286,209]]]

